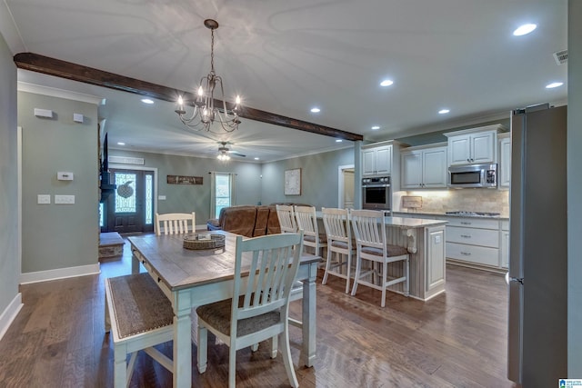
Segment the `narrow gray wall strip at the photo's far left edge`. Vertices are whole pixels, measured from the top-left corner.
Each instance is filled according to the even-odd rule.
[[[0,316],[18,293],[16,66],[0,35]]]

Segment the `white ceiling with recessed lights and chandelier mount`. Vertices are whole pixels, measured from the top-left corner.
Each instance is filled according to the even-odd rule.
[[[567,100],[567,0],[5,0],[0,32],[32,52],[193,92],[210,69],[226,99],[310,123],[391,139],[507,117]],[[514,36],[523,23],[538,25]],[[383,88],[384,78],[394,85]],[[106,98],[110,144],[216,154],[216,141],[262,161],[333,149],[335,140],[243,119],[224,138],[186,134],[170,103],[19,71],[19,81]],[[546,89],[550,82],[565,85]],[[309,108],[317,105],[319,114]],[[450,114],[437,111],[447,107]],[[381,129],[372,131],[372,125]],[[349,144],[349,142],[347,142]]]

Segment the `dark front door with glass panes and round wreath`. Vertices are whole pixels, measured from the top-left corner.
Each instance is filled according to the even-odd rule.
[[[154,231],[154,172],[110,169],[117,185],[105,204],[106,232]]]

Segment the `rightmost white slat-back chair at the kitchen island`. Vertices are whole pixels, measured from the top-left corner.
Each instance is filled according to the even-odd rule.
[[[351,210],[349,212],[352,229],[356,237],[356,275],[352,295],[356,295],[357,285],[362,284],[382,291],[381,305],[386,305],[386,289],[398,283],[404,283],[404,294],[408,296],[408,272],[409,255],[405,247],[387,244],[386,220],[384,212],[377,210]],[[367,260],[373,264],[372,269],[361,272],[362,261]],[[401,275],[391,276],[388,264],[402,262]],[[375,284],[372,280],[366,280],[367,276],[380,277],[381,284]]]

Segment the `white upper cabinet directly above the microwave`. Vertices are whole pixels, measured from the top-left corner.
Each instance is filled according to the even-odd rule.
[[[494,124],[445,134],[448,164],[497,163],[497,133],[504,130],[503,125]]]

